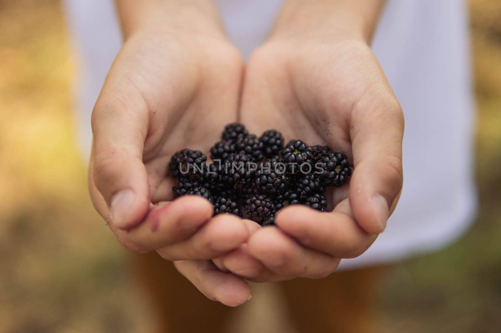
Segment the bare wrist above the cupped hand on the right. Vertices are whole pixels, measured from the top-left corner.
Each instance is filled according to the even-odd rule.
[[[287,0],[271,38],[347,36],[370,43],[384,0]]]

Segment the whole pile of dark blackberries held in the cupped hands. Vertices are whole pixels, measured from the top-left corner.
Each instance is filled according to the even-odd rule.
[[[346,155],[326,145],[296,139],[286,144],[276,129],[256,136],[240,123],[224,127],[210,158],[207,164],[207,156],[190,149],[172,156],[174,196],[200,195],[212,203],[214,215],[231,213],[261,225],[273,225],[276,213],[291,204],[324,211],[327,187],[346,184],[352,172]]]

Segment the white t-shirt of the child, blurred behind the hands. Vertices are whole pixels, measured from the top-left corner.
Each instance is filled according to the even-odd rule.
[[[245,56],[261,44],[281,0],[217,0],[231,40]],[[80,55],[78,125],[90,151],[90,114],[121,45],[113,0],[66,0]],[[405,113],[404,187],[386,230],[354,267],[402,259],[456,239],[470,224],[472,181],[469,34],[459,0],[389,0],[372,48]]]

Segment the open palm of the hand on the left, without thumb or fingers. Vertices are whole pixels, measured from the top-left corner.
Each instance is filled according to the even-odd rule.
[[[189,47],[179,35],[168,40],[152,33],[132,36],[107,78],[107,82],[121,83],[114,91],[106,90],[106,84],[103,88],[127,106],[116,111],[105,106],[100,108],[104,111],[93,114],[93,118],[103,112],[131,118],[136,135],[143,138],[141,157],[152,202],[173,199],[175,180],[165,177],[173,153],[186,147],[208,153],[219,138],[214,128],[237,117],[242,74],[239,53],[226,42],[193,36],[187,40]],[[98,100],[96,108],[100,104],[103,102]],[[99,123],[94,121],[94,126]]]

